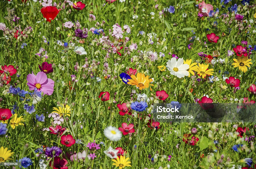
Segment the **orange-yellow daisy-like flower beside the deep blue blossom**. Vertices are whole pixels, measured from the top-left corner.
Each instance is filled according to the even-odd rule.
[[[129,82],[127,82],[127,84],[136,85],[136,87],[139,87],[140,90],[148,88],[150,85],[150,82],[153,81],[152,79],[149,78],[149,76],[145,76],[142,73],[137,73],[137,77],[132,75],[131,78],[132,79],[128,79]]]

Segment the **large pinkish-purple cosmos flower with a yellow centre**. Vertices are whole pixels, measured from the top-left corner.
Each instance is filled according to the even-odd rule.
[[[42,71],[39,71],[37,75],[34,75],[33,72],[32,74],[28,74],[27,81],[29,90],[35,90],[37,88],[37,91],[43,92],[44,95],[51,95],[53,93],[54,81],[48,79],[47,75]]]

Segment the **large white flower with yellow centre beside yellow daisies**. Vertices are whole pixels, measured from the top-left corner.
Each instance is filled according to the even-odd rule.
[[[189,65],[184,64],[183,58],[178,58],[177,61],[176,58],[173,57],[171,60],[168,60],[166,64],[171,75],[177,76],[178,78],[189,76],[189,72],[187,71]]]

